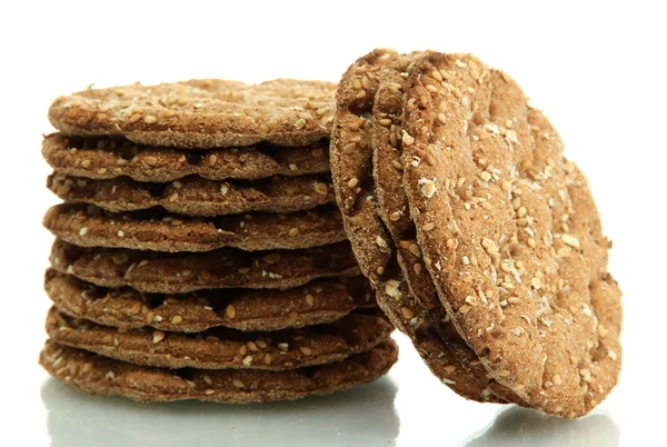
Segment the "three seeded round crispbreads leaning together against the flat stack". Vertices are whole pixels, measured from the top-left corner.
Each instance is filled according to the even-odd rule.
[[[456,393],[580,417],[618,380],[620,290],[587,180],[516,82],[376,50],[344,74],[331,171],[379,305]]]

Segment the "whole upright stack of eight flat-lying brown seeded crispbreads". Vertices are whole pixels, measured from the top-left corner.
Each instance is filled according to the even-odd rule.
[[[331,206],[334,90],[201,80],[57,99],[62,133],[42,153],[66,202],[44,217],[42,365],[145,401],[293,399],[385,374],[392,328]]]

